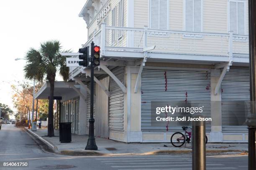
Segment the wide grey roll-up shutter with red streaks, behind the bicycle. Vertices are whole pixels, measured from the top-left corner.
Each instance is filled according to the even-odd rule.
[[[165,78],[166,74],[166,78]],[[167,86],[166,86],[167,81]],[[167,87],[167,90],[166,90]],[[151,101],[196,101],[204,106],[203,115],[210,117],[210,72],[177,70],[143,70],[141,75],[141,130],[167,131],[166,126],[151,125]],[[174,106],[174,107],[175,107]],[[180,131],[179,122],[169,122],[168,131]],[[210,132],[210,125],[206,131]]]

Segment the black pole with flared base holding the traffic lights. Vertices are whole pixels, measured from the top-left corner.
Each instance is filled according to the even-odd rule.
[[[91,102],[90,102],[90,119],[89,119],[89,138],[85,150],[98,150],[98,147],[94,138],[94,118],[93,118],[93,94],[94,94],[94,43],[91,43]]]

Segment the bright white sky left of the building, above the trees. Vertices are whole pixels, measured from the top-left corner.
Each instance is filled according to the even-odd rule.
[[[40,42],[59,40],[63,49],[87,41],[85,21],[78,17],[86,0],[0,0],[0,103],[13,109],[11,84],[25,80],[23,58]],[[58,76],[57,80],[61,80]],[[31,82],[32,85],[32,82]],[[14,109],[15,110],[15,109]]]

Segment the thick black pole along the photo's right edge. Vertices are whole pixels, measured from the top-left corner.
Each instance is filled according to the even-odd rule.
[[[248,125],[248,170],[256,170],[256,1],[248,0],[251,113]]]

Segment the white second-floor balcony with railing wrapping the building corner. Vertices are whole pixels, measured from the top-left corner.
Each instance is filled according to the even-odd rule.
[[[214,32],[186,32],[106,26],[102,23],[91,42],[101,47],[101,56],[115,59],[194,60],[209,63],[248,63],[248,35]],[[154,50],[148,50],[154,47]],[[153,60],[154,59],[154,60]],[[166,60],[167,59],[167,60]],[[74,68],[75,69],[75,68]],[[73,70],[74,71],[74,70]]]

